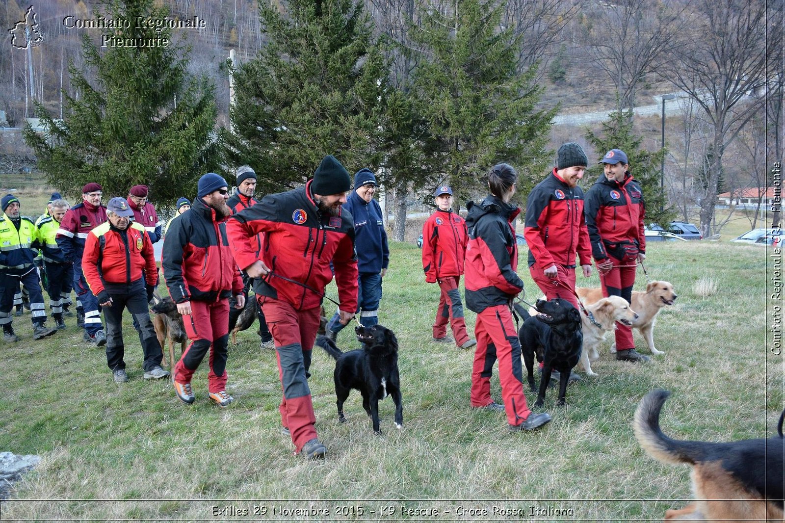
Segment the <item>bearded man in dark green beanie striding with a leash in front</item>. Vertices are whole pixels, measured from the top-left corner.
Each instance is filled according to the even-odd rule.
[[[324,287],[338,283],[341,324],[357,309],[357,258],[354,221],[341,212],[352,181],[344,166],[326,156],[303,188],[265,196],[234,214],[227,232],[237,265],[260,278],[254,291],[272,331],[278,352],[283,400],[279,411],[283,433],[295,453],[323,459],[326,449],[316,437],[308,386],[311,351],[319,328]],[[253,240],[264,232],[261,258]],[[261,276],[265,276],[261,278]]]

